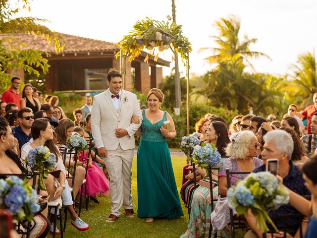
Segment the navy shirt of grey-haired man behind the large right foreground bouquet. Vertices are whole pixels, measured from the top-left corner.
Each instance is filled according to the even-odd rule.
[[[303,179],[303,174],[300,169],[293,164],[290,160],[290,170],[288,175],[283,179],[283,184],[291,189],[292,191],[296,192],[299,195],[310,195],[310,191],[305,186],[305,180]],[[256,169],[254,169],[253,173],[264,172],[265,165],[262,165]],[[281,206],[280,208],[270,211],[268,213],[269,216],[279,216],[284,214],[299,214],[299,212],[290,206]],[[300,221],[297,218],[282,218],[282,219],[274,219],[274,224],[277,228],[294,228],[297,230],[300,227]]]

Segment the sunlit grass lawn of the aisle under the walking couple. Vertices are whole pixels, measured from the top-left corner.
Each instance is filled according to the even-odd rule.
[[[177,183],[178,193],[181,188],[183,166],[186,163],[186,157],[172,156],[174,175]],[[134,211],[138,210],[138,191],[136,178],[136,158],[133,159],[132,166],[132,196]],[[110,196],[100,197],[100,204],[89,201],[88,211],[82,210],[81,217],[90,226],[86,232],[77,231],[68,218],[65,238],[179,238],[185,233],[188,224],[187,209],[183,207],[183,217],[171,220],[159,219],[153,223],[146,223],[144,218],[126,218],[124,210],[121,211],[121,217],[114,223],[107,223],[105,220],[110,214]],[[84,203],[83,203],[84,205]],[[58,224],[58,223],[57,223]]]

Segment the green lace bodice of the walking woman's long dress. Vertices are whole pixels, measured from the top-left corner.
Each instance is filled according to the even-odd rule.
[[[166,120],[166,112],[161,120],[152,124],[152,122],[146,118],[145,109],[142,110],[143,121],[141,125],[141,140],[161,142],[166,141],[166,138],[160,133],[160,127],[163,125],[163,122]]]

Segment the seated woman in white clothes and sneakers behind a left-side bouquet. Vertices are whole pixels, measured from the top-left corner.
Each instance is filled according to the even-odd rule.
[[[55,170],[60,170],[60,174],[59,177],[56,178],[59,181],[56,192],[51,197],[54,199],[55,197],[61,195],[63,204],[66,206],[71,216],[71,224],[79,231],[87,231],[89,226],[77,216],[74,210],[72,196],[69,190],[67,179],[65,178],[66,170],[63,164],[63,159],[58,147],[53,143],[53,132],[54,130],[49,119],[36,119],[32,125],[32,138],[34,141],[23,147],[21,156],[26,157],[29,151],[37,146],[47,146],[50,151],[55,154],[57,162]],[[58,234],[57,229],[56,233]]]

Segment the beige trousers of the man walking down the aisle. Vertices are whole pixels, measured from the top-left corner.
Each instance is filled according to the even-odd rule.
[[[131,168],[134,150],[122,150],[120,145],[116,150],[107,151],[104,158],[110,177],[111,214],[120,216],[121,208],[132,209]]]

